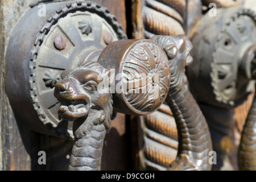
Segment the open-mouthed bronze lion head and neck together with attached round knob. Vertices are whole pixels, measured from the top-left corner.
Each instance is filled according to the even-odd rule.
[[[100,169],[113,107],[125,114],[152,113],[171,82],[167,56],[151,40],[110,43],[97,62],[85,61],[61,77],[55,85],[59,114],[73,121],[75,135],[69,170]]]

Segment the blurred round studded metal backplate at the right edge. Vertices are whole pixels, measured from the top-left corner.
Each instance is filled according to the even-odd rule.
[[[192,38],[194,62],[187,68],[191,92],[199,102],[233,107],[254,89],[251,61],[256,44],[251,10],[218,9],[201,19]]]

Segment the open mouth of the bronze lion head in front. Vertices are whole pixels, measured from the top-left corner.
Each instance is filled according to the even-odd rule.
[[[59,107],[59,114],[63,119],[74,120],[86,117],[90,111],[90,104],[84,104],[85,100],[73,100]]]

